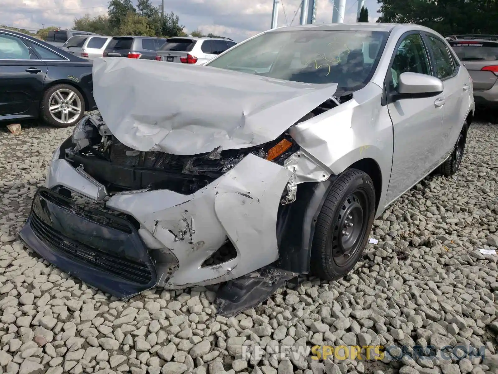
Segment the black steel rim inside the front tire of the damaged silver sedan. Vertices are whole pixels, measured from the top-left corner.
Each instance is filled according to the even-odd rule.
[[[334,217],[334,230],[329,236],[328,245],[334,262],[339,267],[347,267],[359,250],[363,250],[363,234],[368,225],[369,215],[365,191],[356,190],[346,200]]]

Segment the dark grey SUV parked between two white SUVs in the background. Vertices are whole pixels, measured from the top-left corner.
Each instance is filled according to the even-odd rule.
[[[165,38],[151,36],[114,36],[104,50],[104,57],[154,60],[165,42]]]

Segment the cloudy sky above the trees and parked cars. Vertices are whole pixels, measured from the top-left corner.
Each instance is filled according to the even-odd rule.
[[[299,23],[300,1],[281,0],[279,26]],[[331,0],[316,1],[315,23],[330,23]],[[161,0],[151,3],[160,5]],[[180,17],[186,32],[200,28],[204,33],[242,41],[270,27],[272,4],[272,0],[164,0],[164,9]],[[365,0],[365,4],[374,22],[379,16],[379,4],[376,0]],[[0,24],[35,30],[43,25],[71,27],[75,17],[103,14],[107,5],[108,0],[0,0]],[[346,22],[356,20],[357,7],[357,0],[346,0]]]

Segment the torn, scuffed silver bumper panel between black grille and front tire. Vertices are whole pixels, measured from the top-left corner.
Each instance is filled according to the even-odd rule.
[[[178,269],[169,279],[157,268],[157,277],[164,282],[158,286],[205,286],[238,278],[278,258],[277,211],[290,177],[287,168],[249,154],[191,195],[165,189],[116,194],[107,206],[132,215],[178,259]],[[202,266],[227,237],[237,257]]]

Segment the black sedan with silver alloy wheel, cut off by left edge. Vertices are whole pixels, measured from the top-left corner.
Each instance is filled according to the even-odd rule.
[[[92,61],[0,29],[0,121],[42,117],[68,127],[95,109]]]

